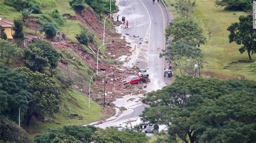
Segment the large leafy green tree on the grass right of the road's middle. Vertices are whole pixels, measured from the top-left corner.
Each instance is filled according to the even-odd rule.
[[[166,40],[172,35],[172,43],[160,57],[173,61],[173,68],[179,68],[181,75],[193,74],[195,64],[199,65],[200,73],[203,53],[198,47],[206,41],[203,30],[192,18],[178,17],[165,31]]]

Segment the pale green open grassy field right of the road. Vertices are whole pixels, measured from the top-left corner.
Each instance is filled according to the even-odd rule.
[[[166,0],[173,4],[174,0]],[[227,11],[224,8],[216,8],[215,0],[196,1],[194,17],[204,30],[207,43],[201,46],[204,53],[204,71],[220,78],[243,78],[256,80],[256,56],[253,55],[254,62],[245,63],[239,60],[248,60],[246,53],[240,54],[239,45],[228,42],[229,32],[226,30],[231,23],[238,22],[245,12]],[[173,7],[172,7],[172,11]],[[174,11],[174,17],[177,13]]]

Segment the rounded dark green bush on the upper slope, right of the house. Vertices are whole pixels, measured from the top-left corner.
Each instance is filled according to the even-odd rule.
[[[45,32],[46,38],[53,39],[56,36],[57,28],[52,23],[45,23],[39,31]]]

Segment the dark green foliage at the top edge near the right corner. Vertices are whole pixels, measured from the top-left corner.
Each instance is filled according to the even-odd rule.
[[[215,4],[227,10],[252,10],[252,0],[216,0]]]

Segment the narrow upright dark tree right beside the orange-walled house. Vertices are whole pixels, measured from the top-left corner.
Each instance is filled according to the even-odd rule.
[[[14,29],[14,34],[12,35],[12,37],[14,37],[16,44],[18,46],[21,46],[24,40],[23,24],[21,20],[14,19],[13,29]]]

